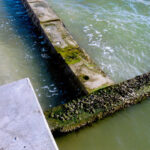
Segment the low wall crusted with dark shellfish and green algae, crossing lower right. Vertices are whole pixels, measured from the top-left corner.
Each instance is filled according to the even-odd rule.
[[[150,73],[109,86],[45,112],[53,132],[66,133],[150,96]]]

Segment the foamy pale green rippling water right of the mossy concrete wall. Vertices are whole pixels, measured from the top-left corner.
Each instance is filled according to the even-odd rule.
[[[115,82],[150,71],[150,1],[47,1]]]

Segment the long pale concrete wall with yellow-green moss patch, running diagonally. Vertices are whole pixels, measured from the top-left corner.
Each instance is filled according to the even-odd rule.
[[[51,41],[57,53],[61,55],[80,81],[81,84],[78,85],[86,94],[113,84],[109,77],[92,62],[85,50],[79,47],[61,19],[45,0],[22,1],[28,9],[33,23]]]

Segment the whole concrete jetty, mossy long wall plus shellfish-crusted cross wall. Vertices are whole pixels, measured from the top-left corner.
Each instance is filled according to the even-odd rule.
[[[80,48],[45,0],[22,2],[33,24],[49,43],[51,54],[58,57],[62,75],[67,77],[73,90],[88,94],[45,112],[53,132],[77,130],[150,96],[150,73],[112,85],[113,82]]]

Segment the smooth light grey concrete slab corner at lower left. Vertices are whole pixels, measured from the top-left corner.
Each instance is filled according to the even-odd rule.
[[[57,150],[29,79],[0,86],[0,150]]]

